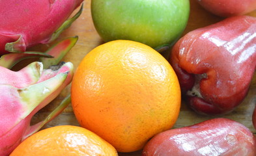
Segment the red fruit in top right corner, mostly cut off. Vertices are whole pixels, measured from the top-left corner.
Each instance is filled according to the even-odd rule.
[[[255,0],[197,0],[197,2],[217,16],[244,15],[256,9]]]

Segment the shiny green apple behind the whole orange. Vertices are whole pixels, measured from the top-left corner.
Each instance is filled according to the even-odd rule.
[[[92,0],[96,31],[105,42],[134,40],[156,48],[174,44],[190,14],[189,0]]]

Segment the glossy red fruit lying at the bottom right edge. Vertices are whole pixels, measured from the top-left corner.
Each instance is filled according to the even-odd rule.
[[[256,139],[244,125],[215,118],[159,133],[146,144],[142,155],[255,156]]]

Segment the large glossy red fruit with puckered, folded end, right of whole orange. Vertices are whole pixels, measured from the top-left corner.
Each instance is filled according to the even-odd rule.
[[[227,18],[178,40],[169,62],[193,110],[226,114],[242,103],[255,72],[255,43],[251,16]]]

